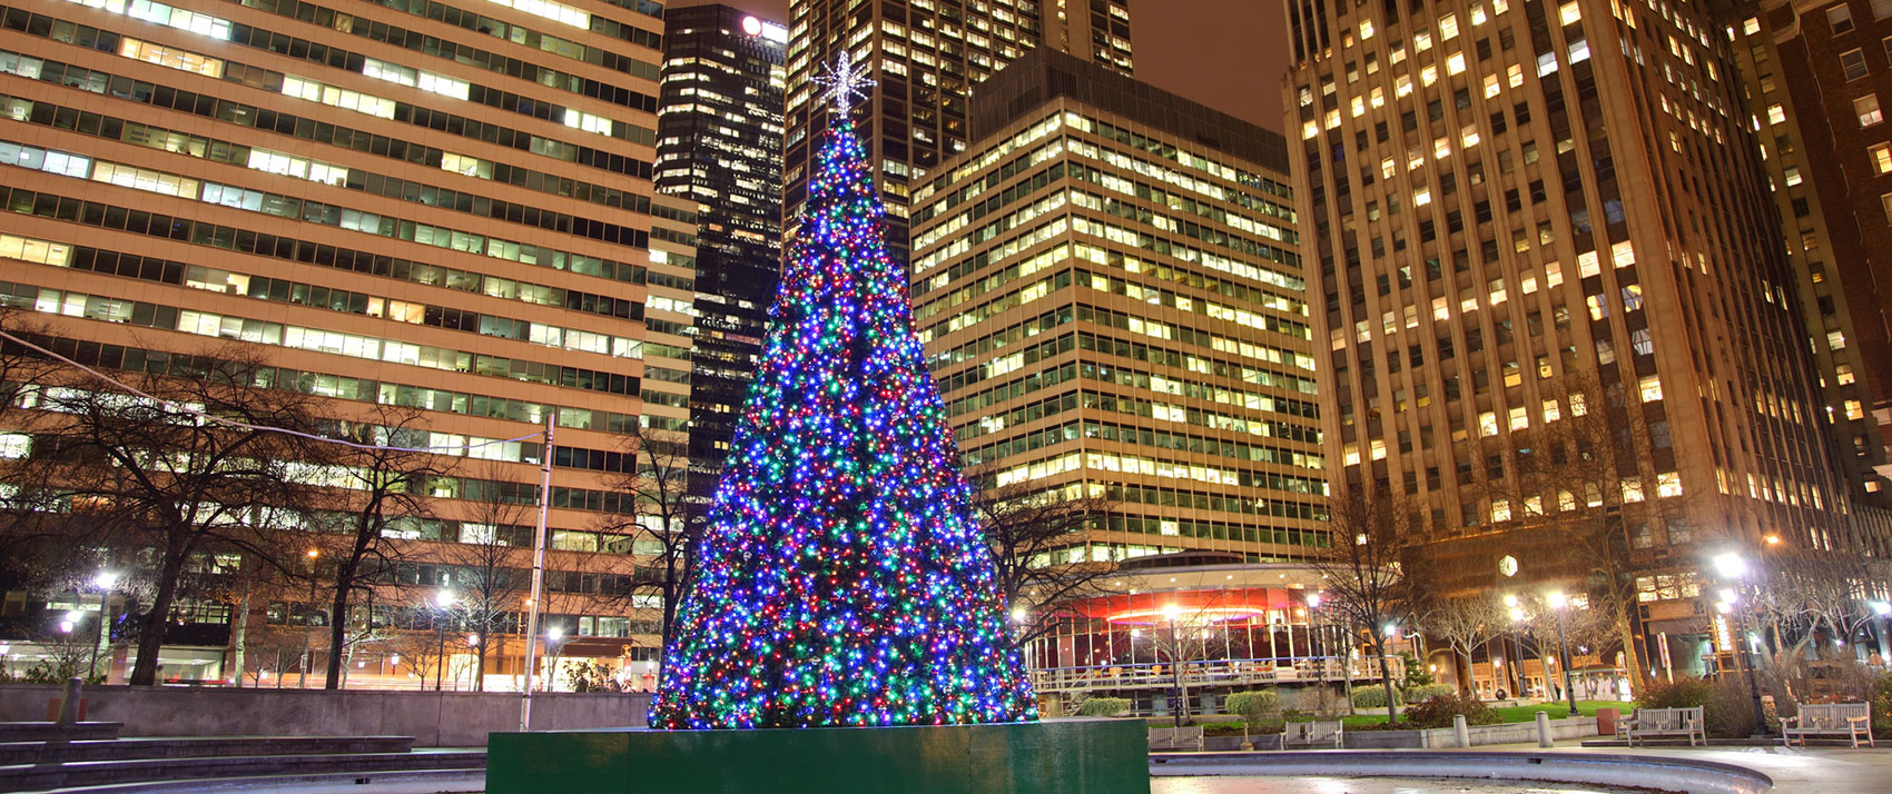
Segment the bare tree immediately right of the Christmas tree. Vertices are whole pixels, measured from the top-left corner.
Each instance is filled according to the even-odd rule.
[[[1014,645],[1025,647],[1056,630],[1061,616],[1073,614],[1078,599],[1101,594],[1105,577],[1116,573],[1114,561],[1060,560],[1073,546],[1082,550],[1084,531],[1094,529],[1114,505],[1086,493],[1082,484],[1050,490],[1033,490],[1024,482],[1001,486],[990,471],[969,473],[967,480],[974,488],[972,509],[1007,607],[1018,611],[1029,603],[1039,613],[1014,633]]]

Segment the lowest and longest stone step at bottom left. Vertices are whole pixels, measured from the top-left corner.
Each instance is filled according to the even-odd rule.
[[[0,792],[44,792],[144,781],[282,777],[333,771],[473,769],[484,751],[333,752],[314,756],[136,758],[0,766]]]

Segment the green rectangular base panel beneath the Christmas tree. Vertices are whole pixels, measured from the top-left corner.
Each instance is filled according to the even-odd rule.
[[[492,734],[488,794],[1148,794],[1141,720]]]

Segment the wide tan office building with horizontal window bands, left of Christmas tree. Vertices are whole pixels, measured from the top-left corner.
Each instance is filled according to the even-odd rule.
[[[499,635],[496,686],[520,671],[547,452],[484,442],[556,416],[547,626],[566,658],[649,656],[632,641],[655,628],[626,605],[628,537],[600,527],[630,509],[613,482],[636,450],[619,433],[689,420],[696,206],[649,181],[660,13],[645,0],[4,8],[0,295],[93,367],[191,372],[193,355],[238,346],[327,416],[414,406],[422,442],[469,444],[441,457],[433,514],[399,524],[373,626],[414,626],[437,590],[462,588],[469,546],[526,546],[499,561],[513,620],[484,630]],[[490,505],[517,518],[481,518]],[[299,592],[254,620],[369,624],[365,605],[312,616],[325,594]],[[199,596],[176,613],[202,628],[229,607]],[[193,656],[204,664],[176,673],[221,669],[219,648],[166,648],[166,664]]]

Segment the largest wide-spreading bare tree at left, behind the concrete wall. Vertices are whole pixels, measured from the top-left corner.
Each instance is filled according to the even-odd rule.
[[[310,457],[308,442],[272,427],[314,429],[308,397],[263,386],[250,352],[225,354],[193,357],[185,376],[123,374],[155,399],[96,380],[47,389],[47,422],[17,469],[26,488],[57,493],[91,543],[149,550],[134,686],[157,681],[187,567],[214,552],[280,567],[282,516],[305,507],[293,461]]]

